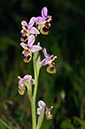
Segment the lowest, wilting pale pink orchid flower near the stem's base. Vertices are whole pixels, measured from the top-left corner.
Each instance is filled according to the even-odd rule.
[[[45,114],[46,114],[47,120],[52,119],[51,110],[52,110],[53,106],[51,106],[50,108],[48,108],[48,107],[46,106],[46,104],[45,104],[42,100],[40,100],[40,101],[38,102],[38,106],[39,106],[39,108],[37,108],[37,114],[38,114],[38,115],[41,114],[41,110],[42,110],[42,108],[44,107],[44,108],[45,108]]]

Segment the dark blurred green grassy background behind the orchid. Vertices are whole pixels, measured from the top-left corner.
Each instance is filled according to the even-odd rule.
[[[42,129],[85,129],[85,0],[0,1],[0,129],[31,129],[29,99],[18,93],[17,77],[33,76],[32,61],[23,62],[21,21],[40,16],[44,6],[53,20],[49,34],[37,41],[58,58],[56,74],[48,74],[47,66],[40,71],[37,102],[54,106]]]

